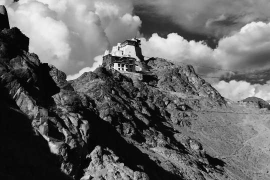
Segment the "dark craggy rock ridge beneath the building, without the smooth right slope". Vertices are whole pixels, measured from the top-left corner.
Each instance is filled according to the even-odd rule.
[[[223,97],[192,66],[143,65],[138,77],[97,68],[66,81],[19,29],[2,30],[0,178],[251,178],[187,132],[198,112],[226,108]]]

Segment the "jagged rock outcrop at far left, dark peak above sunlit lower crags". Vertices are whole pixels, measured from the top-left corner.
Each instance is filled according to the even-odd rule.
[[[78,95],[70,85],[68,88],[65,75],[56,74],[56,78],[53,76],[56,71],[53,66],[40,63],[36,54],[26,51],[28,38],[17,28],[2,30],[0,42],[3,49],[0,60],[1,87],[17,108],[27,115],[34,132],[47,140],[51,152],[59,155],[58,168],[75,177],[80,158],[87,151],[85,141],[88,130],[88,121],[83,120],[79,112],[72,111],[81,106],[80,101],[74,100],[79,98]],[[63,83],[58,87],[59,81]],[[59,97],[60,105],[52,95]]]

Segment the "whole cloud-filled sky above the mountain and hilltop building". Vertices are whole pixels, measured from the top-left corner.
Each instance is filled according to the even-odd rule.
[[[140,37],[145,56],[194,66],[232,100],[270,99],[269,0],[0,0],[29,51],[67,79],[93,71],[112,45]],[[238,72],[235,72],[238,71]],[[241,73],[240,73],[241,72]],[[244,72],[244,73],[242,73]]]

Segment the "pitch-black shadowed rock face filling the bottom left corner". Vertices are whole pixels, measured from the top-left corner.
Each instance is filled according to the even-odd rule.
[[[0,179],[66,179],[59,157],[48,142],[35,133],[29,119],[0,87]]]

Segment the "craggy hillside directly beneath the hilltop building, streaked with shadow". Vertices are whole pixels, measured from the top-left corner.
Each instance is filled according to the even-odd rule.
[[[172,74],[175,78],[172,77],[169,82],[168,78]],[[186,77],[185,74],[192,77]],[[190,176],[197,179],[203,179],[203,176],[213,178],[204,172],[205,168],[213,171],[216,169],[211,167],[211,164],[208,165],[207,155],[202,148],[186,149],[174,137],[177,131],[173,130],[173,125],[190,125],[190,118],[194,117],[190,109],[200,108],[203,105],[224,104],[219,93],[198,78],[191,66],[171,67],[160,73],[146,75],[145,79],[134,81],[116,70],[108,72],[104,68],[97,68],[94,72],[84,73],[71,81],[71,85],[81,96],[91,99],[90,107],[93,107],[99,117],[111,124],[127,141],[132,142],[166,171],[174,171],[176,176],[171,177],[172,179],[179,177],[188,179]],[[172,89],[173,87],[177,91]],[[184,99],[178,97],[178,93],[188,94],[190,97]],[[202,99],[194,100],[194,96],[198,95],[203,95],[200,96]],[[211,98],[212,96],[217,98]],[[197,143],[188,137],[183,138]],[[186,152],[187,150],[190,152]],[[123,153],[121,152],[122,155]],[[149,167],[150,169],[153,167]],[[179,169],[188,175],[181,173]],[[147,174],[151,174],[151,171]],[[203,173],[205,175],[202,175]],[[162,177],[158,171],[154,174],[152,176],[154,179],[168,178],[167,174]]]

